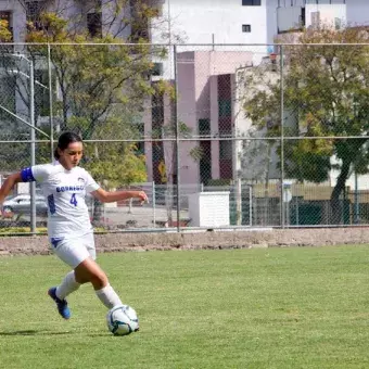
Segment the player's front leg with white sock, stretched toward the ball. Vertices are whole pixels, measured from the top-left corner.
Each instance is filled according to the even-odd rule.
[[[105,272],[92,257],[88,257],[75,268],[75,276],[78,283],[91,282],[97,296],[109,309],[122,305],[122,301],[110,285]]]

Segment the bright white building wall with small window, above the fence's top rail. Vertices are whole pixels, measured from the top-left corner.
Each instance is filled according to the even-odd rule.
[[[154,42],[267,43],[266,0],[166,0]],[[163,37],[164,36],[164,37]]]

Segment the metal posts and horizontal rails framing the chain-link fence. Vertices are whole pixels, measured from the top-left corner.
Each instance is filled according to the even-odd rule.
[[[25,47],[29,47],[29,46],[40,46],[42,43],[13,43],[14,49],[20,48],[20,49],[24,49]],[[101,46],[100,43],[87,43],[87,46]],[[5,46],[9,46],[9,43],[7,43]],[[50,135],[48,135],[47,132],[42,131],[41,129],[39,129],[38,127],[36,127],[35,125],[35,116],[34,116],[34,99],[31,97],[30,102],[30,122],[26,122],[25,119],[23,119],[22,117],[16,116],[16,114],[14,114],[13,112],[10,112],[9,110],[7,110],[4,106],[0,105],[0,109],[5,110],[9,114],[15,116],[17,119],[20,119],[22,123],[24,123],[25,125],[29,126],[31,128],[31,136],[30,136],[30,140],[0,140],[0,143],[29,143],[29,145],[31,147],[31,152],[35,152],[35,144],[36,143],[48,143],[50,145],[50,156],[52,157],[53,155],[53,148],[54,148],[54,123],[53,123],[53,93],[52,93],[52,62],[51,62],[51,48],[52,47],[58,47],[58,46],[78,46],[77,43],[47,43],[47,48],[48,48],[48,76],[49,76],[49,85],[47,86],[47,88],[49,89],[49,104],[50,104],[50,113],[49,113],[49,119],[50,119]],[[123,47],[122,43],[111,43],[111,46],[119,46]],[[126,44],[126,47],[129,47],[131,44]],[[148,44],[151,46],[151,44]],[[180,199],[181,199],[181,184],[180,184],[180,153],[179,153],[179,147],[182,142],[186,141],[194,141],[196,139],[199,139],[199,137],[196,136],[192,136],[190,138],[183,138],[180,137],[179,135],[179,119],[178,119],[178,71],[177,71],[177,53],[178,53],[178,48],[180,47],[186,47],[186,48],[212,48],[212,50],[216,50],[217,48],[221,48],[221,47],[245,47],[245,44],[238,44],[238,43],[227,43],[227,44],[202,44],[202,43],[192,43],[192,44],[155,44],[158,47],[166,47],[168,49],[173,50],[173,55],[174,55],[174,84],[175,84],[175,104],[174,104],[174,123],[175,123],[175,136],[173,138],[164,138],[164,139],[154,139],[152,137],[143,137],[142,139],[140,139],[140,141],[142,142],[155,142],[155,141],[168,141],[168,142],[173,142],[175,144],[175,150],[176,150],[176,171],[177,171],[177,186],[175,187],[175,192],[176,192],[176,211],[177,211],[177,219],[180,219],[180,211],[181,211],[181,204],[180,204]],[[266,44],[250,44],[251,47],[265,47]],[[283,53],[284,53],[284,47],[304,47],[301,44],[292,44],[292,43],[285,43],[285,44],[278,44],[278,49],[279,49],[279,61],[280,61],[280,89],[281,89],[281,135],[280,137],[272,137],[272,138],[268,138],[268,137],[263,137],[263,138],[257,138],[257,137],[247,137],[246,140],[272,140],[272,141],[279,141],[280,145],[281,145],[281,168],[280,168],[280,182],[283,183],[285,180],[285,170],[284,170],[284,163],[285,163],[285,157],[284,157],[284,145],[285,142],[289,140],[317,140],[317,139],[334,139],[334,140],[346,140],[346,139],[360,139],[362,138],[361,136],[355,137],[355,136],[340,136],[340,137],[291,137],[291,136],[285,136],[284,135],[284,63],[283,63]],[[314,47],[315,44],[309,44],[310,47]],[[321,47],[321,44],[316,44],[317,47]],[[351,43],[340,43],[340,47],[352,47],[353,44]],[[355,44],[355,46],[360,46]],[[368,44],[364,43],[362,46],[368,47]],[[15,54],[16,56],[16,54]],[[22,56],[23,58],[23,56]],[[26,59],[26,58],[25,58]],[[35,86],[35,77],[34,77],[34,65],[30,61],[29,63],[29,80],[30,80],[30,93],[33,94],[34,92],[34,86]],[[44,137],[47,137],[48,139],[46,140],[36,140],[35,139],[35,131],[38,131],[40,133],[42,133]],[[214,138],[212,137],[201,137],[201,140],[203,141],[213,141]],[[218,137],[216,138],[217,141],[221,141],[221,140],[227,140],[227,141],[241,141],[241,140],[245,140],[245,137],[242,136],[232,136],[232,137],[227,137],[227,138],[221,138]],[[136,142],[137,140],[112,140],[112,139],[106,139],[106,140],[85,140],[85,142]],[[35,156],[31,157],[31,165],[35,164]],[[252,191],[252,187],[250,187],[251,191]],[[35,189],[31,189],[31,198],[35,196]],[[283,186],[280,187],[280,200],[282,200],[284,196],[284,188]],[[250,198],[252,199],[252,192],[250,194]],[[250,213],[253,212],[253,205],[252,202],[250,202]],[[34,202],[31,203],[31,206],[35,206]],[[153,204],[153,207],[155,208],[155,204]],[[239,211],[239,209],[238,209]],[[293,225],[289,225],[287,221],[287,212],[288,212],[288,207],[287,207],[287,202],[285,201],[280,201],[280,219],[281,219],[281,224],[279,225],[279,227],[281,228],[285,228],[285,227],[294,227]],[[36,232],[36,216],[35,216],[35,208],[33,209],[33,217],[31,217],[31,233]],[[154,216],[155,217],[155,216]],[[244,228],[244,227],[253,227],[254,224],[252,221],[252,216],[250,217],[250,222],[247,226],[230,226],[228,228],[232,229],[232,228]],[[296,227],[298,226],[298,222],[296,225]],[[329,225],[325,225],[325,227],[327,227]],[[332,225],[338,226],[338,225]],[[341,227],[343,225],[340,225]],[[276,226],[273,226],[276,227]],[[278,226],[277,226],[278,227]],[[298,226],[301,227],[301,226]],[[310,227],[310,226],[309,226]],[[313,226],[311,226],[313,227]],[[177,226],[175,227],[177,232],[183,231],[183,227],[181,227],[180,221],[177,221]],[[186,228],[186,229],[196,229],[196,228]],[[133,231],[132,229],[130,229],[129,231]],[[137,231],[137,230],[136,230]],[[142,231],[142,230],[141,230]],[[158,229],[147,229],[145,231],[158,231]]]

